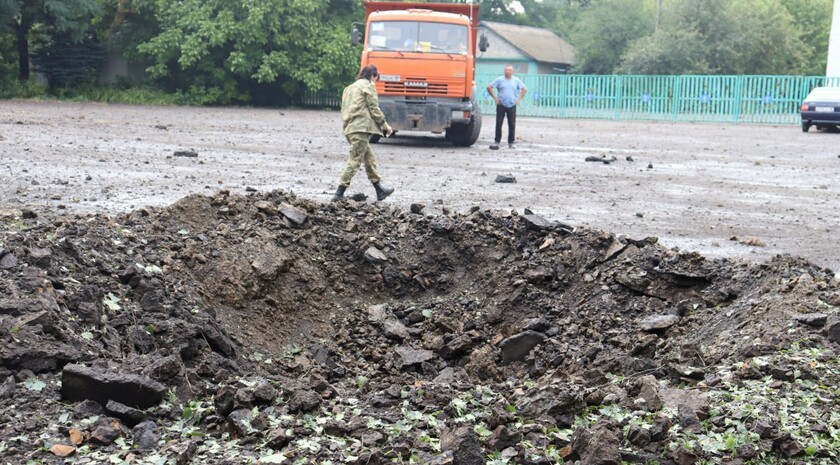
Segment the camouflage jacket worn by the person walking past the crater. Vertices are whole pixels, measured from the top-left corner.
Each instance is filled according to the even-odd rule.
[[[379,109],[379,97],[373,82],[358,79],[344,88],[341,94],[341,123],[345,135],[364,132],[381,136],[390,128]]]

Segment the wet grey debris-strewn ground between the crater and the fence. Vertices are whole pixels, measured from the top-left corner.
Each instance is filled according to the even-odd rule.
[[[327,202],[348,148],[335,111],[0,106],[6,211],[127,212],[221,189]],[[485,118],[471,148],[409,134],[375,145],[384,183],[397,189],[387,202],[430,213],[529,208],[709,257],[790,254],[840,269],[840,134],[519,118],[515,149],[491,151],[492,138]],[[610,163],[587,161],[595,158]],[[497,175],[516,182],[496,183]],[[357,192],[373,195],[362,172],[348,194]]]

